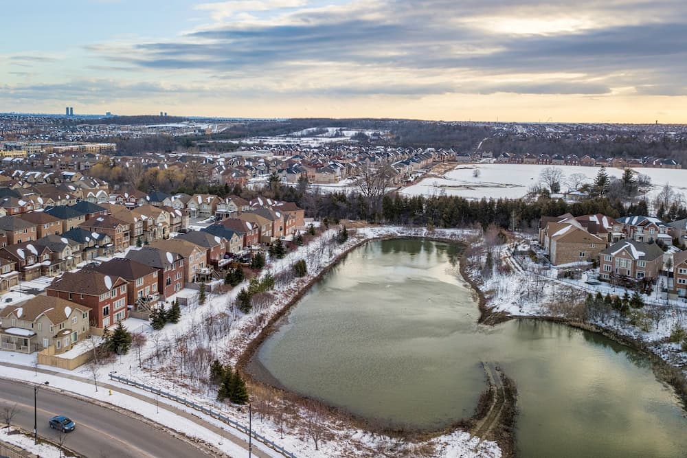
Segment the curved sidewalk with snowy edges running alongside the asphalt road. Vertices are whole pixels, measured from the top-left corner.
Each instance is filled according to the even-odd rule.
[[[34,367],[26,367],[23,365],[12,364],[12,363],[0,363],[0,365],[5,366],[5,367],[12,367],[14,369],[21,369],[21,370],[25,370],[25,371],[35,371],[36,370]],[[88,378],[74,376],[71,374],[65,374],[64,372],[58,372],[58,371],[52,371],[49,369],[40,369],[40,368],[38,369],[38,372],[41,374],[47,374],[50,376],[69,378],[70,380],[76,380],[77,382],[82,382],[82,383],[87,383],[89,385],[93,385],[93,380],[90,380]],[[194,415],[193,413],[190,413],[188,411],[184,411],[182,409],[174,407],[172,404],[169,404],[168,402],[160,402],[161,399],[164,399],[164,398],[158,398],[158,401],[156,404],[155,399],[150,398],[148,396],[145,396],[141,393],[136,393],[135,391],[131,391],[131,390],[119,387],[119,386],[111,385],[109,383],[104,383],[104,382],[100,382],[100,381],[98,382],[98,388],[102,388],[104,390],[116,391],[117,393],[121,393],[121,394],[124,394],[126,396],[130,396],[131,398],[135,398],[137,400],[147,402],[148,404],[152,404],[154,406],[159,405],[160,409],[165,409],[166,411],[169,411],[169,412],[173,413],[174,415],[184,417],[187,420],[190,420],[190,421],[198,424],[199,426],[202,426],[203,428],[207,429],[208,431],[212,431],[212,433],[215,433],[216,435],[220,435],[220,436],[224,437],[229,442],[233,442],[237,446],[240,446],[244,450],[248,451],[248,441],[247,440],[244,440],[244,439],[230,433],[226,429],[220,428],[220,427],[216,426],[215,424],[212,424],[211,422],[207,422],[207,421],[203,420],[198,415]],[[83,396],[81,393],[76,393],[76,394],[78,394],[79,396]],[[153,422],[155,421],[152,418],[148,418],[148,420],[153,421]],[[229,426],[227,426],[227,427],[229,427]],[[268,455],[267,453],[264,453],[262,450],[260,450],[257,447],[257,445],[258,444],[256,442],[254,442],[253,447],[252,447],[252,452],[251,452],[252,455],[255,455],[256,457],[260,457],[260,458],[270,458],[271,457],[271,455]]]

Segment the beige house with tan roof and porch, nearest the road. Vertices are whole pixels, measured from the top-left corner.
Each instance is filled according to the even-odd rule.
[[[36,296],[0,312],[0,347],[32,353],[54,347],[55,353],[70,350],[90,334],[90,309],[51,296]]]

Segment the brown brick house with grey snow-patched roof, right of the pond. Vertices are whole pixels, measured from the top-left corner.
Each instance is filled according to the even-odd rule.
[[[601,251],[599,275],[601,279],[630,277],[656,278],[663,266],[663,250],[655,243],[620,240]]]

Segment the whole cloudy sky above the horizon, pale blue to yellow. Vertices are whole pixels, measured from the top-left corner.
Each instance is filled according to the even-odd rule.
[[[684,0],[1,10],[0,112],[687,123]]]

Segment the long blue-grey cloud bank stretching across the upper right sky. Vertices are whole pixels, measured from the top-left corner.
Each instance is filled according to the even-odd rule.
[[[507,36],[456,21],[504,10],[516,14],[518,9],[539,6],[547,10],[567,8],[571,12],[576,11],[574,8],[632,12],[640,18],[642,14],[653,14],[654,19],[638,25],[546,36]],[[671,20],[656,22],[657,16]],[[574,5],[541,5],[534,0],[387,0],[371,3],[369,10],[300,12],[291,16],[289,25],[229,24],[218,30],[195,32],[172,43],[142,43],[109,53],[104,47],[92,49],[104,52],[110,60],[147,69],[240,72],[255,77],[279,71],[288,78],[306,78],[303,73],[308,66],[324,62],[334,62],[351,75],[372,66],[381,73],[385,69],[403,69],[415,73],[418,80],[443,72],[439,93],[600,94],[622,84],[636,86],[644,93],[681,95],[687,93],[680,82],[687,70],[687,24],[681,22],[686,17],[687,2],[677,0],[581,0]],[[477,76],[530,73],[533,78],[525,84],[495,87],[455,84],[451,73],[465,71]],[[536,78],[539,73],[586,76],[572,82],[561,79],[541,83]],[[341,83],[334,83],[323,92],[435,93],[429,84],[390,87],[380,83],[352,89],[345,81],[343,74]]]

